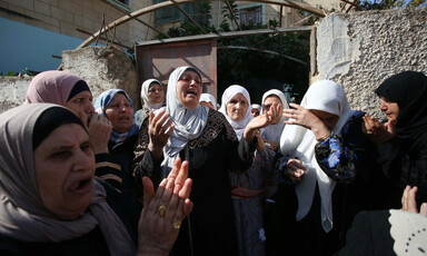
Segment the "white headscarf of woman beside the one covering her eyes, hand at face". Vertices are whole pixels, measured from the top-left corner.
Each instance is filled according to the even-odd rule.
[[[289,108],[288,101],[286,100],[284,92],[281,92],[280,90],[271,89],[266,93],[264,93],[262,104],[266,100],[266,98],[269,96],[277,96],[280,99],[281,106],[284,106],[284,109]],[[276,125],[269,125],[266,128],[264,128],[261,137],[270,141],[280,142],[281,131],[285,128],[285,122],[284,122],[285,120],[286,120],[286,117],[281,116],[280,120]]]

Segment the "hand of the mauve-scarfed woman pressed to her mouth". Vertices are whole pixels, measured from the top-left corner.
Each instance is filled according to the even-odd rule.
[[[98,112],[92,112],[88,127],[89,140],[93,152],[108,152],[108,141],[111,135],[111,122]]]

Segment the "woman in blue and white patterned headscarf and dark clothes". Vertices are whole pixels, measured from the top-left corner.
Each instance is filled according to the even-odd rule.
[[[123,194],[136,200],[141,199],[132,174],[133,146],[139,129],[133,119],[132,100],[125,90],[110,89],[98,97],[95,110],[111,122],[112,130],[108,149],[115,163],[119,163],[121,167]]]

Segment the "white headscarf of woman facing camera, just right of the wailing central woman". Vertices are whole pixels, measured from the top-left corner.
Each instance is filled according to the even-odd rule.
[[[235,121],[227,115],[227,104],[237,93],[242,93],[246,100],[248,101],[248,110],[246,111],[245,118],[240,121]],[[246,90],[242,86],[239,85],[232,85],[228,87],[222,93],[221,108],[219,109],[219,111],[224,114],[228,122],[230,122],[231,127],[235,129],[237,137],[240,139],[244,135],[246,126],[249,124],[250,120],[254,119],[254,117],[250,115],[250,112],[252,111],[252,107],[250,105],[250,96],[248,90]]]

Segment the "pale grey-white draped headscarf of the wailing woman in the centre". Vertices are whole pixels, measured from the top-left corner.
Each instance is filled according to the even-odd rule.
[[[209,108],[201,105],[197,105],[196,108],[191,109],[186,108],[178,99],[177,83],[187,70],[195,71],[201,81],[200,72],[192,67],[179,67],[169,76],[168,92],[166,93],[166,111],[169,112],[173,119],[175,130],[163,148],[165,160],[161,163],[162,177],[168,176],[173,167],[175,160],[187,142],[201,135],[208,119]]]

